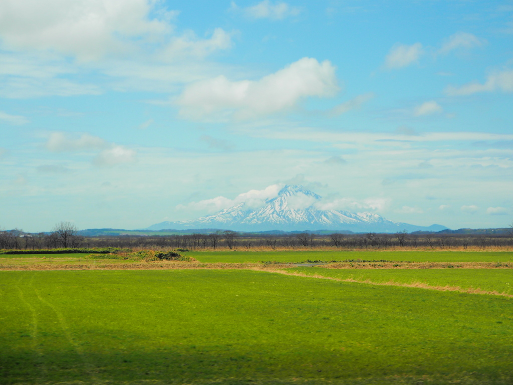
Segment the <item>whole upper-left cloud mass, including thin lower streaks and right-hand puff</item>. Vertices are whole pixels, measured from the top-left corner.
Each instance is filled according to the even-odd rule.
[[[232,45],[232,33],[177,33],[176,11],[160,0],[5,0],[0,2],[0,97],[100,94],[71,79],[97,71],[116,91],[174,92],[220,73],[202,60]],[[2,75],[4,79],[2,79]],[[82,79],[85,79],[82,77]]]

